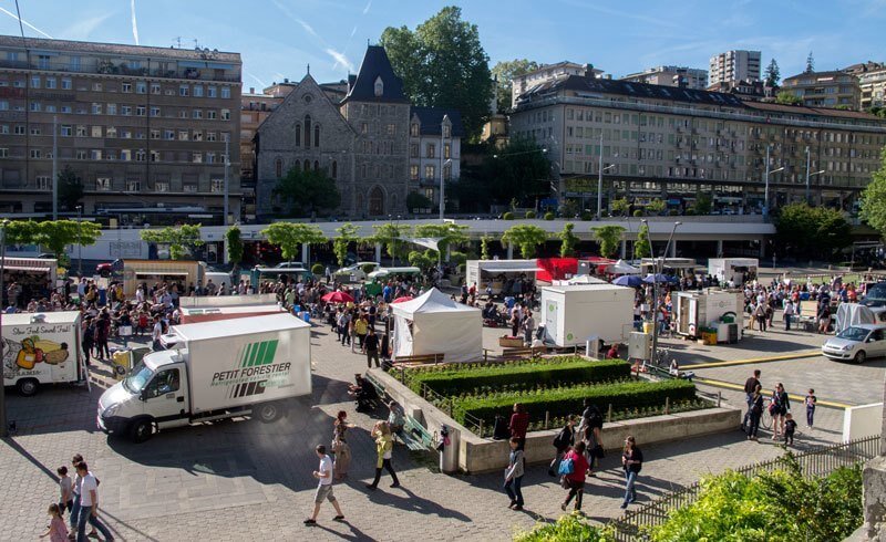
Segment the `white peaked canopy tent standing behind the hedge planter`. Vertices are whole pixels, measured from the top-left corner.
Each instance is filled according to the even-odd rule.
[[[432,288],[412,301],[393,303],[398,356],[445,354],[445,362],[476,362],[483,354],[481,310],[452,301]]]

